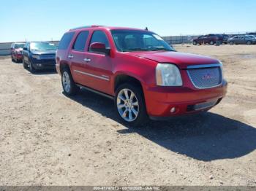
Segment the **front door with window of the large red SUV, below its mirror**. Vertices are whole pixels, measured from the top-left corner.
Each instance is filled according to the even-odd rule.
[[[104,31],[94,31],[91,35],[90,44],[100,42],[105,44],[106,48],[110,48],[108,37]],[[110,77],[112,76],[112,58],[102,52],[93,52],[88,50],[86,52],[86,65],[83,74],[86,78],[86,86],[98,90],[102,93],[111,94]]]

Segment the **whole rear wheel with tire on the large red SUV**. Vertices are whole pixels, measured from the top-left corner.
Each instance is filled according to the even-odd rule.
[[[80,87],[75,85],[75,82],[72,78],[72,75],[69,69],[63,69],[61,73],[61,84],[64,90],[64,93],[67,95],[75,95],[80,90]]]

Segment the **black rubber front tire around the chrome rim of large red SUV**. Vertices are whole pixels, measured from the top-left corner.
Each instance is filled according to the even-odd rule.
[[[135,93],[137,99],[138,99],[138,104],[139,104],[139,114],[138,117],[132,121],[132,122],[127,122],[126,120],[124,120],[117,109],[117,96],[118,93],[123,90],[123,89],[129,89],[132,90],[133,93]],[[146,104],[144,101],[144,95],[143,95],[143,90],[141,90],[140,87],[138,87],[138,85],[136,84],[132,84],[132,83],[125,83],[122,85],[119,85],[116,89],[116,96],[115,96],[115,108],[116,108],[116,114],[118,115],[118,118],[124,122],[124,124],[129,125],[129,126],[133,126],[133,127],[138,127],[138,126],[143,126],[146,125],[148,122],[148,114],[146,113]]]

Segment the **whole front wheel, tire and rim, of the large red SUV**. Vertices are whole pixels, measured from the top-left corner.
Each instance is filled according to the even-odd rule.
[[[120,85],[116,90],[115,106],[118,117],[127,125],[137,127],[148,122],[143,91],[138,85]]]

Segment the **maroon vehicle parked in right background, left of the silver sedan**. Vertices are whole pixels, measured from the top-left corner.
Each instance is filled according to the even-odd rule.
[[[193,44],[197,45],[197,44],[217,44],[217,43],[222,43],[224,39],[224,36],[222,36],[221,34],[207,34],[207,35],[203,35],[203,36],[198,36],[197,38],[193,39]]]

